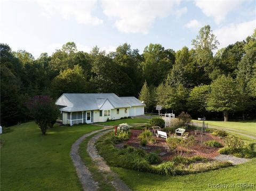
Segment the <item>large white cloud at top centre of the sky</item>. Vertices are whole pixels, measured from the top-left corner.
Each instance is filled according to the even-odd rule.
[[[172,14],[179,1],[103,1],[103,13],[116,18],[115,27],[126,33],[147,34],[157,18]]]

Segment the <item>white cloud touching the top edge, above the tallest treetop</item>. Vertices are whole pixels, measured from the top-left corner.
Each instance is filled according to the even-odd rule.
[[[195,2],[206,16],[213,17],[215,23],[220,24],[226,18],[226,15],[231,10],[239,8],[242,1],[227,1],[227,0],[215,0],[215,1],[203,1],[198,0]]]

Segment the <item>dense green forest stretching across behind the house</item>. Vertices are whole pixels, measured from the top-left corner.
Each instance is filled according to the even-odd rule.
[[[185,111],[195,118],[255,118],[256,30],[217,51],[217,37],[205,26],[191,43],[177,52],[149,44],[142,54],[125,43],[106,54],[97,46],[79,51],[69,42],[38,59],[1,44],[1,125],[30,120],[25,103],[31,97],[62,93],[135,96],[147,112],[162,105],[163,113]]]

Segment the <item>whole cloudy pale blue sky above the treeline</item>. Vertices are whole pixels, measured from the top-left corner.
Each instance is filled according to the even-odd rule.
[[[150,43],[178,51],[192,48],[210,24],[219,47],[241,41],[256,28],[256,1],[6,1],[0,0],[0,43],[35,59],[68,41],[78,51],[107,53],[124,43],[140,53]]]

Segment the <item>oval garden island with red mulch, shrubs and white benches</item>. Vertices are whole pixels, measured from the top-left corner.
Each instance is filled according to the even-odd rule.
[[[249,143],[228,135],[226,131],[207,129],[201,133],[193,126],[182,126],[186,133],[179,136],[175,129],[184,124],[177,122],[175,125],[178,126],[156,130],[157,126],[151,127],[150,124],[131,129],[124,129],[127,124],[121,124],[116,134],[111,132],[101,137],[97,148],[112,167],[160,175],[185,175],[232,165],[228,159],[219,161],[216,157],[220,154],[253,157]],[[166,139],[157,136],[163,132]]]

